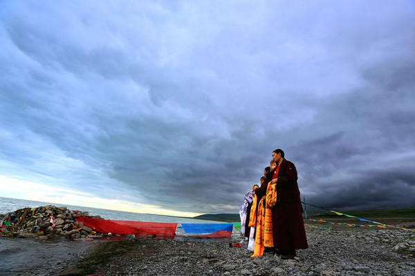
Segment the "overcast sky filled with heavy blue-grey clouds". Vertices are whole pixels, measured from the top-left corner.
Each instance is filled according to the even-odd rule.
[[[0,1],[0,197],[237,213],[414,206],[414,1]],[[129,209],[130,208],[130,209]]]

